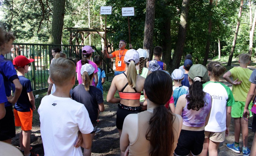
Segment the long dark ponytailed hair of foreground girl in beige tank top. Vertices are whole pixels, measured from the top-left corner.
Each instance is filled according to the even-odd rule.
[[[173,118],[174,114],[164,107],[172,96],[172,79],[163,71],[157,70],[148,75],[144,83],[144,90],[148,99],[155,107],[149,120],[146,139],[150,141],[150,156],[171,155],[174,151]]]

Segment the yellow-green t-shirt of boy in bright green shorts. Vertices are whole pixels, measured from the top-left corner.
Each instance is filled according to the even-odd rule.
[[[241,84],[232,85],[232,93],[235,101],[245,102],[251,85],[249,78],[251,76],[252,70],[248,68],[234,67],[229,71],[231,72],[231,77],[233,78],[233,81],[237,78],[238,81],[242,81]]]

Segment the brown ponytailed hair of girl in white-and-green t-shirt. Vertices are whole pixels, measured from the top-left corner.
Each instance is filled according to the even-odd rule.
[[[226,68],[221,63],[214,61],[207,64],[207,70],[211,72],[214,79],[217,79],[226,71]]]

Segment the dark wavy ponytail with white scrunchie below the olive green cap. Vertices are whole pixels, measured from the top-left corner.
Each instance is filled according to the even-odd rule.
[[[195,77],[195,79],[201,79],[199,77]],[[190,78],[193,82],[194,80]],[[200,110],[205,104],[204,97],[205,92],[203,91],[203,84],[200,81],[195,81],[193,84],[189,86],[189,93],[186,96],[188,101],[187,109],[190,110]]]

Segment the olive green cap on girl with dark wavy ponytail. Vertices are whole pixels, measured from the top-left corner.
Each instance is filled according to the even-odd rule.
[[[206,82],[208,78],[207,68],[202,64],[194,64],[193,66],[190,67],[188,76],[192,80],[194,80],[195,77],[200,77],[201,82]]]

